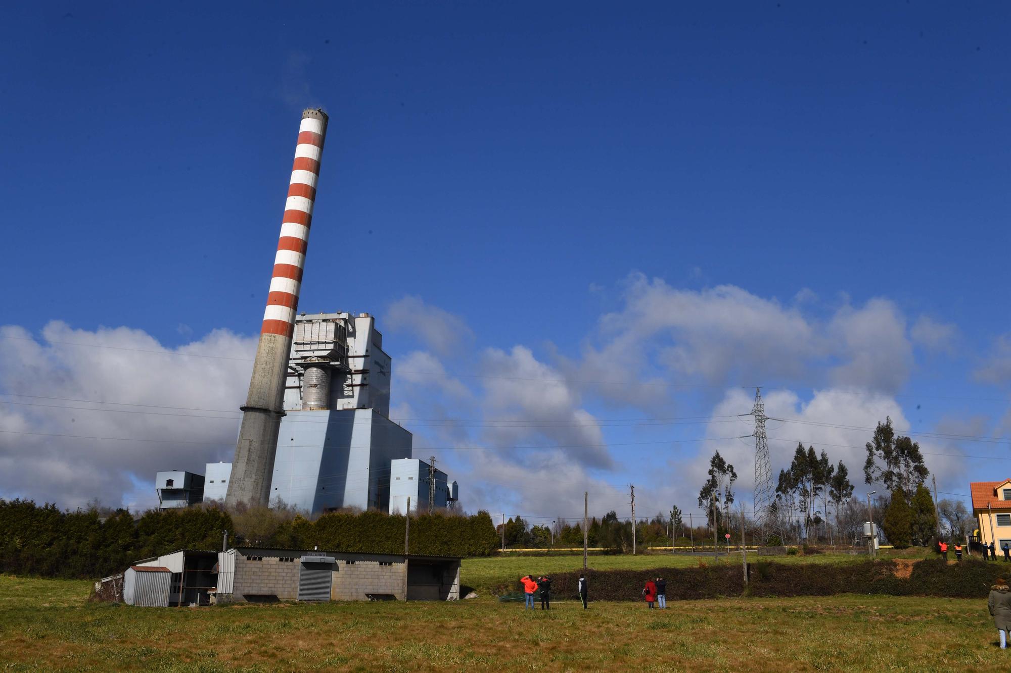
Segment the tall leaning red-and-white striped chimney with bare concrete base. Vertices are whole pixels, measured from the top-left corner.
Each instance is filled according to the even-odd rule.
[[[263,315],[249,395],[242,407],[243,423],[228,479],[225,502],[229,505],[245,502],[266,506],[270,503],[277,432],[284,415],[288,355],[298,310],[327,121],[326,112],[308,109],[302,112],[298,127],[295,163],[291,167],[281,235],[274,257],[274,275],[267,294],[267,310]]]

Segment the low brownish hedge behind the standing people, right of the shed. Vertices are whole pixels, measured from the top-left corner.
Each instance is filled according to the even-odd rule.
[[[908,579],[896,576],[893,561],[854,564],[782,564],[759,561],[748,564],[747,594],[751,596],[829,596],[837,593],[887,594],[892,596],[938,596],[986,598],[991,585],[1011,567],[985,561],[919,561]],[[592,600],[642,600],[642,588],[655,577],[667,580],[668,600],[691,600],[739,596],[745,592],[740,566],[658,568],[654,570],[588,571]],[[553,575],[556,598],[575,598],[578,572]],[[519,584],[517,584],[517,587]],[[512,585],[500,592],[516,591]]]

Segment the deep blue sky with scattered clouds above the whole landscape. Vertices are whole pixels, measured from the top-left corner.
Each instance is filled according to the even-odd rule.
[[[872,426],[895,411],[915,431],[1008,432],[1007,7],[44,3],[4,13],[0,212],[13,254],[0,274],[15,288],[0,308],[4,392],[44,395],[28,390],[41,386],[25,369],[38,358],[57,363],[41,366],[51,381],[91,395],[81,399],[140,399],[116,377],[100,389],[85,376],[109,371],[96,354],[135,351],[71,355],[54,340],[244,357],[298,112],[321,105],[331,126],[300,306],[380,316],[403,372],[401,418],[484,422],[404,420],[416,446],[458,471],[468,506],[558,511],[591,484],[619,507],[610,486],[642,481],[646,506],[690,507],[701,461],[723,445],[662,443],[723,437],[719,426],[616,423],[746,412],[735,386],[786,388],[784,415],[815,414],[803,405],[818,391],[845,391],[818,422]],[[54,320],[66,326],[47,338]],[[453,342],[454,330],[464,338]],[[132,366],[181,358],[116,371],[130,378]],[[166,378],[145,403],[234,408],[242,365],[203,360],[220,388],[183,394]],[[439,368],[448,374],[433,376]],[[221,400],[192,401],[207,388]],[[8,426],[42,434],[64,427],[66,412],[2,411]],[[542,425],[502,432],[490,421],[503,416]],[[779,436],[833,443],[812,427]],[[218,444],[234,439],[231,425],[215,428]],[[0,461],[36,454],[28,437],[39,436],[0,437]],[[0,483],[0,495],[66,494],[54,464],[68,475],[98,464],[68,458],[88,458],[92,445],[54,440],[53,463]],[[658,444],[633,444],[646,441]],[[1007,457],[1000,443],[931,441],[935,453]],[[566,442],[612,446],[589,459],[549,448]],[[739,472],[750,472],[734,442]],[[547,448],[481,460],[461,448],[502,443]],[[103,499],[133,502],[164,460],[122,444],[109,458],[129,459],[95,479]],[[858,451],[828,451],[859,472]],[[185,460],[196,467],[201,455]],[[949,492],[1009,469],[937,460]],[[553,500],[544,491],[558,489],[522,485],[495,461],[565,472],[571,493]]]

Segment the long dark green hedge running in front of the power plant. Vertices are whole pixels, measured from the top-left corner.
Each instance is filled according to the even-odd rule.
[[[295,516],[270,526],[267,535],[255,534],[256,539],[242,530],[242,520],[247,519],[237,514],[234,522],[226,511],[210,506],[151,510],[135,519],[126,510],[102,517],[95,510],[61,511],[52,504],[0,499],[0,573],[104,577],[133,561],[179,549],[219,550],[222,531],[229,532],[233,545],[403,553],[403,516],[377,511],[325,514],[315,521]],[[411,554],[487,556],[497,549],[487,512],[410,519]]]

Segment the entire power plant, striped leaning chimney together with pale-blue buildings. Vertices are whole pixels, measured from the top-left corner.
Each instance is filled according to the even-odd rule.
[[[446,506],[455,484],[418,488],[405,466],[390,502],[392,463],[410,458],[411,435],[389,419],[390,358],[375,318],[298,313],[329,117],[306,109],[298,126],[288,195],[260,341],[234,461],[208,464],[206,476],[158,473],[162,509],[223,499],[228,505],[283,501],[312,514],[354,507],[390,511],[406,498]],[[429,481],[438,481],[426,477]],[[411,505],[416,508],[417,505]]]

